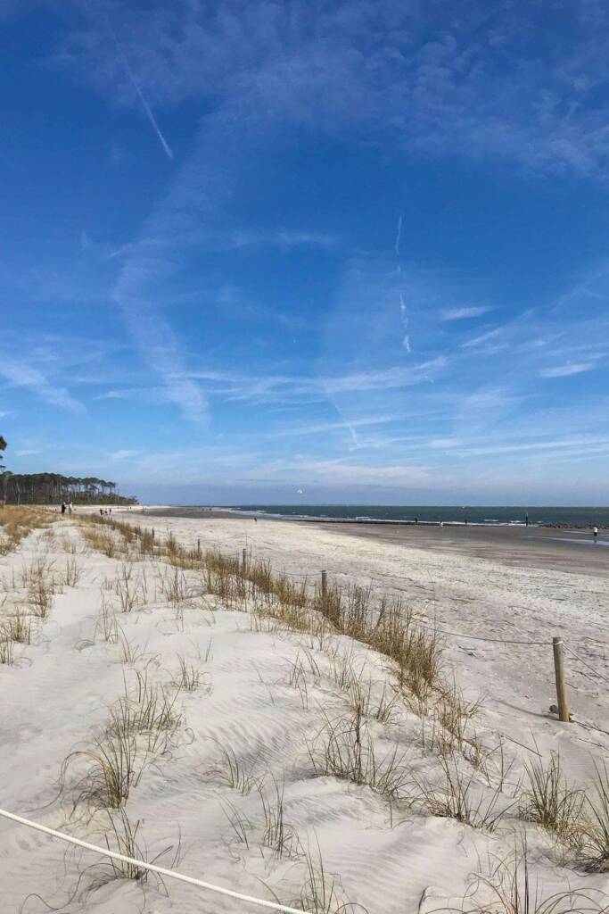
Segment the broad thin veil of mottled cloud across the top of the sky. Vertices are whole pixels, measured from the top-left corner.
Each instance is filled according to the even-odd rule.
[[[74,31],[69,59],[121,101],[200,99],[223,116],[335,133],[391,135],[415,152],[606,175],[607,11],[565,5],[543,23],[521,2],[492,8],[339,0],[320,7],[228,0],[100,0]],[[129,48],[130,72],[100,27]],[[569,35],[570,40],[564,41]]]

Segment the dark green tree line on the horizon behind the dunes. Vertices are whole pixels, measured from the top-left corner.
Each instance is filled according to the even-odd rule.
[[[116,483],[97,476],[61,473],[11,473],[2,462],[7,445],[0,435],[0,499],[7,505],[136,505],[137,498],[119,494]]]

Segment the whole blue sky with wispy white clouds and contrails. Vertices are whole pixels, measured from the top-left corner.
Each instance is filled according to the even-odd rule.
[[[0,25],[13,471],[606,504],[604,4],[0,0]]]

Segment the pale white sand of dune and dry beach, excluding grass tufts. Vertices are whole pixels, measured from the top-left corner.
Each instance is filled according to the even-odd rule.
[[[498,732],[506,738],[506,754],[515,762],[512,781],[522,771],[522,761],[533,758],[519,744],[537,746],[546,759],[552,749],[560,749],[566,770],[580,780],[589,776],[591,753],[599,760],[606,757],[609,737],[604,731],[609,719],[603,680],[584,677],[585,667],[570,661],[576,722],[560,724],[547,714],[555,701],[552,634],[562,634],[586,663],[609,677],[606,645],[584,637],[609,642],[603,618],[609,588],[603,579],[438,557],[307,525],[264,520],[254,524],[246,519],[141,520],[153,524],[157,536],[172,530],[191,545],[199,538],[204,548],[240,553],[247,547],[254,557],[269,558],[278,570],[316,575],[324,567],[341,582],[373,579],[379,587],[403,591],[418,610],[426,610],[453,631],[547,642],[525,648],[449,636],[446,660],[469,696],[485,694],[478,729],[489,744]],[[344,892],[370,914],[414,914],[425,892],[420,909],[440,908],[447,898],[463,894],[469,874],[488,853],[509,854],[521,823],[507,819],[499,833],[489,835],[406,806],[392,812],[366,787],[313,777],[307,742],[320,731],[320,708],[331,718],[349,712],[348,696],[331,675],[331,658],[308,643],[320,676],[307,675],[306,691],[302,683],[299,688],[290,685],[294,661],[303,656],[301,637],[251,631],[247,614],[222,610],[208,595],[176,612],[162,594],[164,563],[136,566],[136,573],[146,579],[147,594],[135,611],[119,613],[119,622],[131,650],[144,654],[135,664],[123,663],[121,645],[95,638],[102,595],[115,608],[118,603],[104,581],[115,578],[122,562],[84,549],[69,519],[57,528],[54,540],[37,532],[15,553],[0,558],[5,580],[41,554],[61,569],[73,558],[60,547],[60,537],[68,537],[78,544],[75,558],[82,571],[78,586],[55,596],[34,643],[17,645],[16,664],[0,665],[2,808],[103,842],[104,815],[89,816],[84,803],[72,811],[78,795],[76,772],[84,771],[78,764],[68,770],[65,792],[58,798],[62,761],[72,749],[82,747],[92,731],[106,726],[110,706],[123,693],[123,677],[131,686],[134,669],[147,664],[154,681],[168,683],[177,675],[177,654],[182,654],[200,668],[201,686],[179,696],[184,726],[175,745],[142,771],[126,806],[131,821],[142,820],[138,837],[148,859],[168,845],[175,847],[181,835],[184,856],[176,865],[181,872],[262,898],[271,898],[272,890],[285,903],[299,897],[305,864],[298,858],[278,860],[268,848],[261,848],[259,794],[253,790],[244,796],[223,782],[215,770],[221,756],[218,744],[232,747],[246,768],[264,776],[269,796],[272,778],[285,781],[286,821],[298,832],[301,845],[317,853],[319,842],[324,866],[338,877],[339,895]],[[0,613],[14,611],[23,598],[22,591],[13,591],[2,606],[0,593]],[[389,676],[383,658],[345,638],[336,639],[336,645],[339,654],[355,651],[378,694]],[[414,714],[401,709],[391,724],[373,720],[370,729],[379,758],[397,747],[413,779],[436,776],[436,758],[421,749],[420,722]],[[479,790],[481,795],[486,790],[481,780]],[[508,798],[501,802],[508,804]],[[239,822],[245,824],[247,845],[237,840]],[[607,877],[585,877],[559,866],[551,839],[532,826],[527,831],[533,877],[539,877],[545,892],[567,884],[609,889]],[[173,851],[159,862],[172,866],[172,861]],[[91,865],[95,866],[85,873]],[[249,910],[179,884],[168,883],[165,895],[153,880],[143,890],[125,880],[91,887],[91,879],[107,876],[108,866],[94,856],[67,854],[65,845],[0,820],[1,909],[7,914],[21,910],[30,893],[23,908],[26,914],[46,911],[44,902],[70,912],[100,914]]]

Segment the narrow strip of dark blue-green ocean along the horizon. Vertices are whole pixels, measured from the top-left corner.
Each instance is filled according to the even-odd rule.
[[[412,524],[483,524],[592,527],[609,526],[609,507],[506,507],[488,505],[231,505],[247,515],[320,520],[367,520]]]

